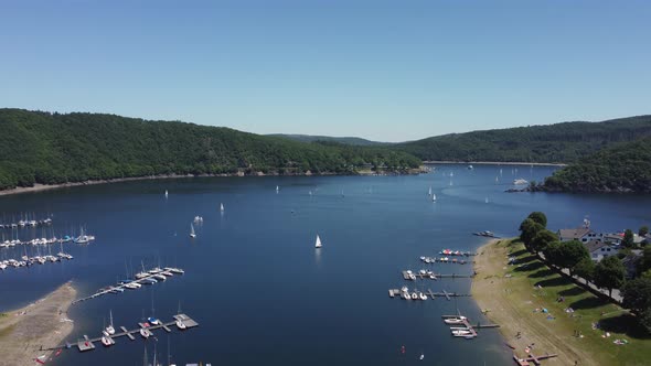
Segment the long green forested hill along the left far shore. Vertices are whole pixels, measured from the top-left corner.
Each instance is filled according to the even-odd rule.
[[[346,174],[364,164],[419,163],[403,152],[178,121],[0,109],[0,190],[172,173]]]

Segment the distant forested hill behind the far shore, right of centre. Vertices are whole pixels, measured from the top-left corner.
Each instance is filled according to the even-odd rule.
[[[651,116],[563,122],[427,138],[396,146],[421,160],[575,162],[611,143],[651,136]]]

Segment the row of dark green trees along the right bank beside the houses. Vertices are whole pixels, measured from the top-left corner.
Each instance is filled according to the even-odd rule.
[[[640,228],[640,233],[648,228]],[[640,323],[651,333],[651,246],[643,248],[638,262],[638,277],[626,280],[626,268],[618,256],[608,256],[598,263],[590,259],[586,246],[578,240],[561,241],[556,233],[547,229],[544,213],[531,213],[520,225],[520,239],[534,254],[543,254],[547,263],[559,269],[566,268],[570,276],[578,276],[597,287],[620,289],[622,306],[630,309]],[[632,240],[632,232],[630,233]]]

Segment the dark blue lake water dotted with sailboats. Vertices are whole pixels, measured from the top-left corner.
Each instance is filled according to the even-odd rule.
[[[0,215],[52,214],[58,236],[81,226],[97,236],[88,246],[65,245],[72,261],[0,273],[0,309],[22,306],[71,279],[81,294],[89,294],[124,278],[127,269],[139,270],[141,261],[160,262],[186,273],[74,305],[70,341],[97,336],[109,310],[116,325],[134,329],[151,315],[152,303],[163,320],[171,320],[180,303],[201,324],[169,335],[172,362],[181,365],[417,364],[420,353],[430,365],[510,364],[497,331],[473,341],[450,337],[440,315],[456,306],[485,321],[471,299],[389,299],[388,289],[405,284],[399,271],[423,268],[418,257],[442,248],[476,249],[484,239],[472,232],[516,235],[532,211],[545,212],[553,229],[578,226],[586,215],[600,230],[638,228],[651,222],[651,197],[504,193],[513,179],[542,181],[553,169],[501,169],[502,175],[497,165],[440,165],[418,176],[177,179],[0,197]],[[427,197],[430,185],[436,203]],[[204,222],[191,239],[196,215]],[[30,239],[47,232],[20,234]],[[323,241],[319,251],[317,234]],[[20,257],[22,250],[3,249],[0,257]],[[429,266],[444,273],[472,271]],[[468,292],[470,282],[418,286]],[[141,365],[145,346],[151,360],[154,343],[167,362],[168,335],[157,331],[157,336],[158,342],[118,338],[110,348],[98,344],[84,354],[66,351],[53,364]]]

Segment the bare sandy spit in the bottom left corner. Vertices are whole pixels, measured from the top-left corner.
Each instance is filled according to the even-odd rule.
[[[67,309],[76,291],[65,283],[22,309],[0,313],[0,366],[39,365],[54,352],[41,351],[62,344],[73,331]]]

